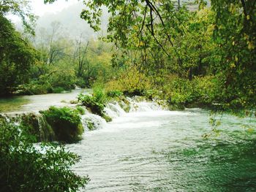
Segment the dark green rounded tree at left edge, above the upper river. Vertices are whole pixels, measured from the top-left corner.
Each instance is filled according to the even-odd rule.
[[[29,80],[29,69],[36,51],[15,31],[0,13],[0,96],[12,93],[15,86]]]

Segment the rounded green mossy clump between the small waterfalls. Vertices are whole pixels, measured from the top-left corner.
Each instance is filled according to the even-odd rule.
[[[69,107],[50,107],[41,111],[46,120],[52,126],[56,139],[61,142],[77,142],[83,134],[83,126],[78,110]]]

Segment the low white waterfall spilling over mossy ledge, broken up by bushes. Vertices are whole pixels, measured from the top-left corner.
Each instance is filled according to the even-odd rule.
[[[81,123],[85,131],[92,131],[107,127],[107,122],[99,115],[92,114],[85,109],[85,115],[80,115]],[[122,98],[118,101],[110,101],[104,113],[110,118],[118,118],[127,114],[127,112],[150,112],[162,110],[157,102],[146,101],[142,97]],[[53,141],[56,137],[53,128],[48,124],[45,116],[39,112],[30,112],[23,114],[0,114],[0,119],[7,123],[15,123],[16,126],[23,125],[29,128],[31,134],[37,137],[37,141]]]

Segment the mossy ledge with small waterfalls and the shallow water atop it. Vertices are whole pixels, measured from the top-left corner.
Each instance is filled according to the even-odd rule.
[[[122,113],[137,110],[138,102],[147,102],[143,96],[127,98],[123,94],[115,93],[108,93],[108,96],[103,92],[98,93],[102,98],[105,97],[104,101],[97,96],[97,91],[92,96],[88,95],[89,91],[80,92],[80,96],[76,96],[78,91],[27,96],[31,103],[16,111],[2,114],[1,120],[14,122],[28,129],[35,137],[34,142],[77,142],[82,139],[83,131],[95,130]],[[43,96],[45,98],[41,99]],[[88,96],[94,103],[84,103],[79,99],[81,96]],[[64,98],[71,100],[61,100]],[[74,121],[75,119],[77,120]]]

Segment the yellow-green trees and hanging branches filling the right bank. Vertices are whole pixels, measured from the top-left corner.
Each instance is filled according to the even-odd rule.
[[[113,88],[156,90],[170,104],[255,108],[255,3],[197,1],[192,11],[175,1],[86,1],[81,17],[96,31],[102,5],[118,47]]]

